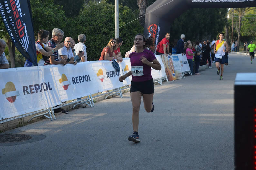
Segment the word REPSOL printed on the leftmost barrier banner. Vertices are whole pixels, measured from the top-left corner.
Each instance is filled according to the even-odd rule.
[[[41,83],[41,84],[32,84],[29,86],[23,86],[23,94],[33,94],[33,93],[38,93],[38,92],[42,92],[47,91],[47,90],[52,90],[51,86],[50,86],[50,82],[48,83]]]

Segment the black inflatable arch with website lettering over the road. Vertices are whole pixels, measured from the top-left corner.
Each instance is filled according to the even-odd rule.
[[[171,22],[189,8],[255,7],[256,0],[157,0],[146,10],[144,35],[155,37],[155,45],[170,31]]]

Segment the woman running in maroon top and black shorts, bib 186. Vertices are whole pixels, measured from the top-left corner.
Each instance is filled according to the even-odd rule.
[[[129,141],[140,142],[138,135],[139,128],[139,110],[141,105],[141,96],[144,102],[146,112],[153,112],[153,96],[154,82],[151,76],[151,67],[156,70],[161,70],[161,65],[157,61],[153,52],[145,47],[150,47],[154,44],[153,37],[145,38],[143,34],[137,34],[134,39],[136,51],[132,52],[129,57],[131,61],[131,71],[119,77],[119,81],[123,82],[128,76],[132,75],[131,82],[131,101],[133,106],[132,122],[133,135],[128,137]]]

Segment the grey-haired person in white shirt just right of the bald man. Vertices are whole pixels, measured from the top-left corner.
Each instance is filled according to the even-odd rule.
[[[75,44],[74,49],[75,49],[75,55],[78,55],[80,51],[83,51],[83,56],[81,57],[81,62],[88,61],[87,59],[87,52],[86,52],[86,46],[84,45],[86,41],[86,36],[84,34],[78,35],[78,43]]]

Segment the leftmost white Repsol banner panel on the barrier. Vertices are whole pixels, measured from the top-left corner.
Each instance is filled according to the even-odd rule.
[[[49,69],[4,69],[0,72],[0,80],[2,119],[61,104]]]

